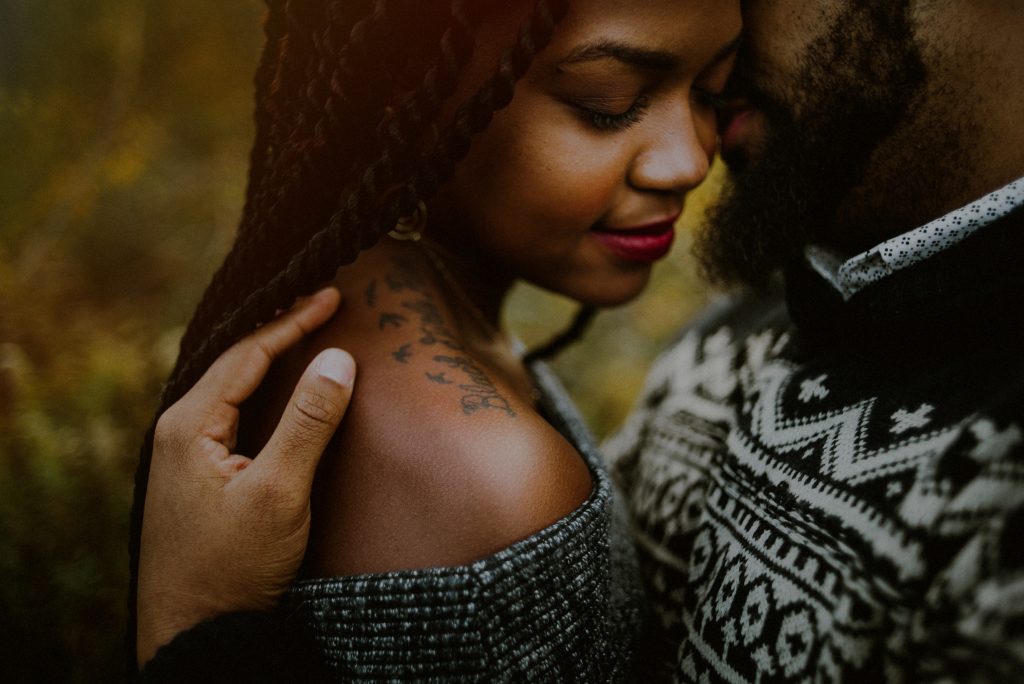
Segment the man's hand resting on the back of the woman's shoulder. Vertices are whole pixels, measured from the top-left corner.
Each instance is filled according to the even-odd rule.
[[[340,349],[322,351],[256,460],[232,454],[239,405],[339,300],[323,290],[236,344],[157,423],[139,557],[140,666],[204,619],[273,607],[298,572],[313,473],[355,366]]]

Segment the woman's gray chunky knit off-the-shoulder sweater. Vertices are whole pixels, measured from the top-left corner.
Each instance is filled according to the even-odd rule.
[[[339,679],[630,679],[643,595],[628,523],[575,408],[550,371],[534,371],[546,418],[591,469],[591,496],[468,565],[297,583],[286,606]]]

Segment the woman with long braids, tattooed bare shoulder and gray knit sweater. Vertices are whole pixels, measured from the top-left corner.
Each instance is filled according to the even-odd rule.
[[[624,678],[639,596],[610,485],[499,314],[518,277],[588,306],[642,290],[707,173],[738,3],[370,4],[271,6],[242,227],[164,405],[333,277],[343,324],[281,359],[239,435],[259,451],[326,347],[373,387],[288,609],[344,677]]]

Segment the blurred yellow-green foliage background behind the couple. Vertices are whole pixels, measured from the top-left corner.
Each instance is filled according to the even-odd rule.
[[[0,681],[123,678],[136,451],[239,218],[261,15],[0,0]],[[707,297],[687,242],[555,364],[598,434]],[[522,288],[508,320],[537,342],[572,310]]]

